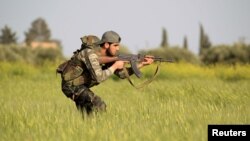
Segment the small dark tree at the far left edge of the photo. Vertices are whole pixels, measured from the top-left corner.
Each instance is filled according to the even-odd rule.
[[[7,25],[1,30],[1,32],[2,32],[2,35],[0,36],[1,44],[11,44],[17,42],[16,33],[12,32]]]

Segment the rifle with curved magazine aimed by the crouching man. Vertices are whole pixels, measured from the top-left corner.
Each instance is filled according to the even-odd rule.
[[[138,78],[142,77],[142,73],[139,71],[137,67],[137,62],[142,62],[144,58],[152,58],[154,62],[174,62],[173,59],[164,59],[158,56],[149,56],[149,55],[142,55],[142,54],[119,54],[115,57],[107,57],[107,56],[101,56],[99,58],[100,64],[106,64],[106,63],[111,63],[115,61],[126,61],[129,62],[133,72]],[[158,69],[157,69],[158,70]]]

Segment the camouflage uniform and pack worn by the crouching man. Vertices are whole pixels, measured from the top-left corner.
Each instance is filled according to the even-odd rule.
[[[110,77],[113,72],[109,68],[112,64],[100,65],[97,50],[99,47],[95,42],[99,40],[96,36],[85,36],[82,39],[82,47],[74,52],[70,60],[61,64],[57,72],[61,73],[62,91],[75,101],[76,107],[80,111],[90,114],[93,110],[106,110],[106,104],[95,95],[89,88],[98,85]],[[128,69],[129,74],[133,73]],[[122,70],[115,71],[120,78],[125,78]]]

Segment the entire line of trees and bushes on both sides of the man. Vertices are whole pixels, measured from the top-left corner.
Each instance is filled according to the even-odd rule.
[[[0,35],[0,61],[25,60],[27,62],[42,64],[45,60],[55,61],[65,59],[62,53],[60,41],[51,39],[51,30],[46,21],[38,18],[31,23],[31,27],[24,33],[26,48],[20,48],[17,44],[16,33],[7,25],[1,30]],[[199,54],[189,51],[188,38],[183,38],[182,47],[171,46],[168,42],[168,34],[162,28],[162,40],[159,47],[141,50],[139,53],[173,58],[177,62],[189,62],[195,64],[236,64],[250,62],[250,45],[238,42],[233,45],[212,45],[208,34],[200,24]],[[56,42],[58,49],[31,49],[32,42]],[[123,47],[121,52],[129,53],[128,48]],[[31,57],[27,57],[31,56]],[[29,61],[30,60],[30,61]],[[37,61],[34,61],[37,60]]]

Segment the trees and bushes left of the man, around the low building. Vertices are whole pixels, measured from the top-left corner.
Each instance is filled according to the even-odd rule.
[[[55,62],[63,60],[62,46],[59,40],[51,39],[51,30],[43,18],[38,18],[31,23],[28,31],[24,32],[24,43],[18,44],[16,32],[13,32],[9,26],[1,29],[0,35],[0,61],[23,61],[35,65],[42,65],[48,61]],[[47,43],[36,45],[33,48],[32,43]],[[56,48],[51,48],[50,43],[55,43]]]

